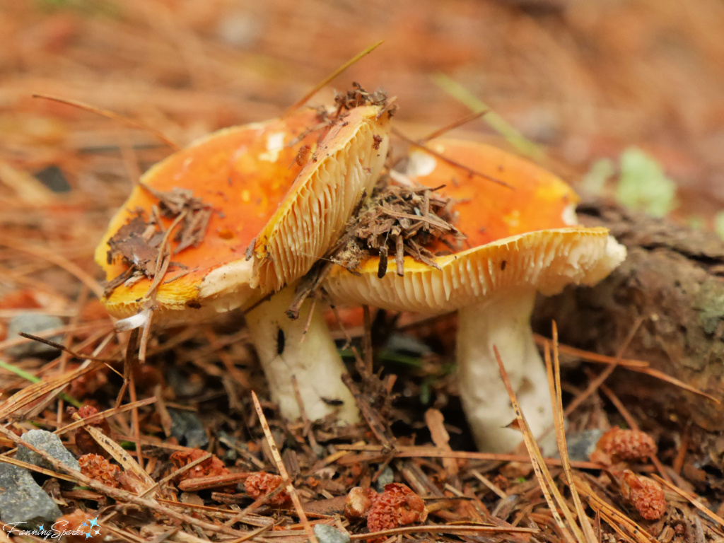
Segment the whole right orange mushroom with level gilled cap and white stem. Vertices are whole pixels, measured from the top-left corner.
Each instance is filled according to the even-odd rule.
[[[509,451],[521,434],[505,427],[515,414],[493,346],[538,435],[553,418],[530,325],[536,292],[594,285],[623,261],[626,249],[604,228],[575,226],[576,194],[544,169],[481,143],[439,140],[429,146],[434,153],[411,153],[403,177],[431,188],[446,185],[468,248],[437,256],[435,267],[405,256],[402,277],[389,261],[379,278],[377,257],[364,261],[356,275],[336,267],[324,290],[335,303],[431,314],[457,310],[460,399],[473,437],[481,450]]]

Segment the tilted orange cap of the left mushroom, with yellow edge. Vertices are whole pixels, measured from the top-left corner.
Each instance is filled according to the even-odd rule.
[[[351,207],[344,206],[348,202],[345,199],[329,201],[329,194],[334,194],[329,186],[335,182],[331,176],[339,172],[336,161],[340,148],[349,150],[349,143],[357,138],[358,132],[369,133],[370,139],[379,135],[384,143],[379,148],[382,159],[374,157],[379,166],[375,163],[374,168],[370,167],[370,171],[374,169],[379,173],[387,152],[388,125],[386,118],[376,122],[378,112],[379,108],[374,106],[353,109],[343,122],[314,132],[310,129],[319,125],[319,120],[316,112],[311,110],[230,127],[195,141],[143,174],[140,181],[146,187],[164,192],[174,188],[190,190],[194,197],[201,198],[213,210],[203,241],[173,254],[172,266],[165,276],[173,280],[167,279],[159,285],[156,308],[169,319],[186,319],[190,314],[201,316],[187,313],[188,308],[213,313],[251,306],[283,286],[280,279],[271,283],[271,287],[255,288],[258,280],[254,277],[253,262],[245,256],[246,249],[261,231],[270,232],[265,234],[266,243],[277,243],[277,236],[282,237],[279,243],[284,243],[289,229],[276,225],[277,209],[286,209],[287,216],[295,217],[296,230],[292,228],[295,235],[329,239],[338,228],[337,224],[328,225],[318,215],[313,215],[311,226],[303,223],[304,204],[308,205],[313,198],[324,200],[327,207],[320,205],[319,209],[327,210],[337,222],[342,217],[347,220]],[[370,124],[374,124],[374,130],[369,129]],[[369,147],[372,143],[369,142]],[[345,148],[345,144],[348,147]],[[306,164],[300,166],[295,159],[303,146],[309,146],[311,154]],[[363,178],[367,185],[374,185],[371,173],[354,175]],[[364,188],[360,188],[359,193]],[[316,190],[321,193],[315,193]],[[113,279],[127,269],[121,259],[108,262],[109,240],[138,213],[148,219],[152,206],[157,203],[149,190],[137,186],[111,219],[96,248],[96,262],[106,271],[107,279]],[[334,211],[329,211],[330,208]],[[165,230],[172,221],[162,219],[161,222]],[[311,248],[319,247],[319,243],[321,241]],[[292,266],[297,277],[306,272],[308,267],[305,269],[304,266],[310,258],[305,255],[302,257],[304,264]],[[179,277],[174,279],[174,276]],[[295,278],[292,273],[283,275],[285,281]],[[104,298],[106,308],[117,317],[138,312],[151,282],[152,279],[143,277],[132,285],[116,287]]]

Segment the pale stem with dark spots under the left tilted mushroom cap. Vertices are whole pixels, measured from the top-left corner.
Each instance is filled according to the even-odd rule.
[[[271,400],[279,404],[282,416],[301,416],[292,376],[296,377],[306,416],[315,421],[337,413],[342,424],[359,419],[354,398],[342,383],[345,366],[329,334],[319,304],[311,317],[306,301],[299,319],[292,321],[286,311],[294,298],[294,285],[271,296],[246,313],[251,340],[269,382]],[[309,328],[302,341],[307,322]]]

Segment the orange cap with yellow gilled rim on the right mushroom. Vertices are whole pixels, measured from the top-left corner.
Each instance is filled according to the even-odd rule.
[[[378,279],[377,257],[364,261],[359,275],[337,266],[324,283],[332,299],[442,313],[505,287],[534,285],[553,294],[569,283],[593,285],[623,260],[625,251],[605,228],[571,226],[578,196],[554,174],[482,143],[438,140],[429,148],[458,165],[416,149],[407,177],[445,185],[440,190],[456,201],[455,227],[467,236],[466,248],[433,258],[439,269],[405,256],[403,277],[390,260]]]

